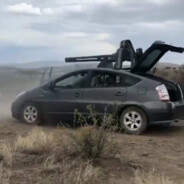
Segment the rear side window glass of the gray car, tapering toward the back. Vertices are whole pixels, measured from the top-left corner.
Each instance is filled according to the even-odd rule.
[[[113,72],[93,72],[90,80],[90,87],[128,87],[140,80]]]

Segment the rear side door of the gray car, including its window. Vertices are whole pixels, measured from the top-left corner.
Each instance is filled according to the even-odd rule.
[[[123,75],[118,72],[93,71],[83,95],[85,106],[93,105],[100,115],[115,113],[117,103],[126,100],[127,87],[122,83]]]

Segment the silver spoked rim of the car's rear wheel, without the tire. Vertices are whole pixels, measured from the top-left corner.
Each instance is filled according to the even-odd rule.
[[[137,131],[142,125],[142,117],[138,112],[130,111],[124,115],[123,122],[126,129]]]

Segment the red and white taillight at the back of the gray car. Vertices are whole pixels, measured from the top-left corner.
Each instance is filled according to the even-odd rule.
[[[168,93],[167,88],[164,84],[157,86],[156,90],[157,90],[158,96],[160,98],[160,101],[163,101],[163,102],[170,101],[169,93]]]

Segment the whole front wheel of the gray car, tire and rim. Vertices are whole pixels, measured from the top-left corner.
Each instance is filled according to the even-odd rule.
[[[41,116],[38,107],[33,103],[27,103],[23,106],[21,120],[29,125],[40,125]]]

